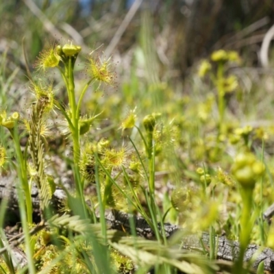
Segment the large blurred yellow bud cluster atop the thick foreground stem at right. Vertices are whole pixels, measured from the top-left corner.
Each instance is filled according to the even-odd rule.
[[[250,153],[236,155],[232,165],[232,174],[243,188],[254,188],[256,179],[264,173],[264,164]]]

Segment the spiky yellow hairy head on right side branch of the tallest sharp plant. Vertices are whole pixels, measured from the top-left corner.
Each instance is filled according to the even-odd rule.
[[[99,82],[103,82],[109,85],[114,84],[116,75],[112,72],[110,58],[108,60],[101,60],[99,54],[97,53],[95,56],[93,56],[92,51],[92,53],[90,53],[88,56],[86,71],[90,77],[98,80]]]

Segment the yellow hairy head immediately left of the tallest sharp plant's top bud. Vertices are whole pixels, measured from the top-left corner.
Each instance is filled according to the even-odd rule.
[[[48,45],[40,52],[34,66],[38,70],[45,72],[45,70],[48,68],[54,68],[55,66],[58,66],[60,60],[61,58],[57,53],[56,45]]]

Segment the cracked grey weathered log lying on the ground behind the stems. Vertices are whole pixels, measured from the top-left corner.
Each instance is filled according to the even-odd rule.
[[[9,210],[16,210],[17,195],[14,187],[15,175],[7,175],[0,177],[0,201],[3,198],[9,200]],[[66,195],[63,190],[58,189],[55,191],[52,204],[60,206],[64,201]],[[32,190],[32,202],[34,208],[39,208],[38,190],[34,187]],[[155,233],[153,229],[149,227],[147,221],[140,216],[134,216],[123,212],[110,211],[105,214],[105,219],[111,229],[119,229],[126,232],[131,232],[129,219],[133,218],[136,227],[136,233],[139,236],[153,239]],[[161,230],[160,225],[158,228]],[[166,237],[169,238],[175,232],[179,230],[177,225],[171,225],[170,223],[164,223],[164,232]],[[225,236],[216,237],[216,245],[218,245],[217,258],[220,260],[234,261],[238,257],[240,250],[239,243],[233,240],[228,240]],[[203,242],[203,245],[201,244]],[[210,236],[207,233],[203,233],[201,237],[197,235],[184,236],[182,238],[182,247],[190,251],[203,252],[204,247],[209,248]],[[254,258],[253,258],[254,257]],[[274,272],[274,251],[269,248],[261,248],[258,245],[249,245],[245,252],[245,261],[254,260],[254,269],[258,268],[260,262],[264,262],[264,270]]]

